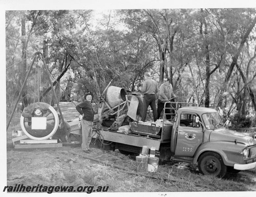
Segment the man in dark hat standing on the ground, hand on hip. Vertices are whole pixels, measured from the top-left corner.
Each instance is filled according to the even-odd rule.
[[[76,106],[76,110],[81,114],[81,126],[82,126],[82,150],[86,153],[90,153],[92,149],[89,144],[92,140],[92,123],[94,112],[91,105],[93,94],[87,93],[84,96],[85,101]]]

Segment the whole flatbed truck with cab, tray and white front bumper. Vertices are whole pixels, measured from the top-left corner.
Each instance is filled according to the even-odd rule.
[[[127,95],[124,100],[129,100]],[[121,109],[122,104],[108,106],[111,113],[107,118],[120,116],[119,112],[113,111],[114,108]],[[166,109],[173,114],[171,120],[165,119]],[[104,114],[105,110],[99,111]],[[70,123],[73,134],[81,133],[77,123]],[[97,147],[137,155],[143,146],[154,147],[160,160],[197,164],[202,174],[217,177],[225,176],[226,172],[256,168],[256,138],[227,129],[215,109],[198,107],[195,103],[166,102],[162,120],[131,120],[129,127],[131,132],[114,131],[98,121],[94,125],[92,143],[98,139],[100,143],[94,143]]]

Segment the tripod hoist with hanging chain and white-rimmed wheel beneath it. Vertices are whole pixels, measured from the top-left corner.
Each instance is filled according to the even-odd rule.
[[[45,59],[44,59],[42,53],[36,52],[33,59],[32,59],[32,62],[31,62],[31,65],[29,67],[29,70],[27,72],[27,75],[25,77],[25,80],[22,84],[21,90],[19,91],[19,96],[18,96],[18,98],[16,100],[16,103],[14,105],[14,108],[12,110],[10,120],[7,123],[7,129],[6,130],[8,130],[8,127],[11,123],[13,114],[15,112],[15,109],[17,107],[19,99],[22,95],[22,91],[23,91],[23,89],[24,89],[24,87],[27,83],[29,74],[32,70],[32,66],[35,62],[36,57],[37,58],[41,57],[41,59],[42,59],[43,65],[45,67],[45,70],[46,70],[46,73],[47,73],[47,76],[48,76],[48,79],[49,79],[50,84],[51,84],[51,89],[53,91],[53,95],[55,97],[55,100],[56,100],[56,103],[57,103],[57,106],[58,106],[58,111],[59,111],[59,114],[60,114],[60,118],[61,118],[62,122],[64,122],[64,118],[63,118],[61,109],[59,107],[58,98],[57,98],[56,92],[54,90],[53,83],[52,83],[51,78],[50,78],[50,72],[49,72],[48,67],[45,63]],[[49,105],[48,103],[45,103],[45,102],[40,102],[41,68],[40,68],[40,66],[38,66],[38,59],[37,59],[37,65],[36,65],[36,77],[35,77],[35,79],[36,79],[36,86],[35,86],[36,90],[35,90],[35,92],[36,92],[36,96],[37,96],[37,102],[32,103],[29,106],[24,108],[24,110],[21,114],[21,117],[20,117],[20,126],[21,126],[22,131],[30,139],[32,139],[32,140],[47,140],[47,139],[51,138],[54,135],[54,133],[57,131],[59,118],[58,118],[58,114],[57,114],[56,110],[51,105]],[[65,130],[65,133],[66,133],[67,138],[68,138],[68,142],[71,143],[70,138],[69,138],[69,133],[67,132],[65,124],[63,124],[63,126],[64,126],[64,130]]]

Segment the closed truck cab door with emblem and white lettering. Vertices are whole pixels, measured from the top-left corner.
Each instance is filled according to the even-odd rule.
[[[193,157],[203,141],[203,129],[196,114],[181,113],[176,138],[175,156]]]

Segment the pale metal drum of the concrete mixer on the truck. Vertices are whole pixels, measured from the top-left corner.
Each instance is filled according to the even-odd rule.
[[[126,100],[127,92],[124,88],[109,86],[105,92],[105,100],[113,108]]]

